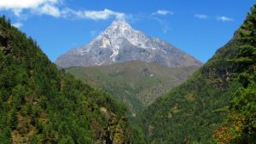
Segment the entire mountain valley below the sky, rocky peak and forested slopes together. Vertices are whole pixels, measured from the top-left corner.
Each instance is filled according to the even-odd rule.
[[[0,144],[256,143],[256,5],[204,65],[125,20],[52,62],[13,25],[0,17]]]

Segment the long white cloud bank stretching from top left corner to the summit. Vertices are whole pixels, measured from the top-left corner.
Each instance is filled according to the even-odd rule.
[[[69,8],[61,9],[62,0],[0,0],[0,11],[10,10],[17,17],[27,10],[29,14],[46,14],[56,18],[68,19],[90,19],[90,20],[108,20],[111,17],[116,19],[125,19],[124,13],[119,13],[110,9],[103,10],[75,10]]]

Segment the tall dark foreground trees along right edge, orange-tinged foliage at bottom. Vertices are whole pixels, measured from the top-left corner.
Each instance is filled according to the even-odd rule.
[[[236,66],[234,79],[242,84],[236,90],[230,105],[230,118],[223,125],[226,130],[218,133],[222,143],[254,143],[256,141],[256,5],[238,31],[241,44],[238,55],[231,60]],[[230,135],[229,139],[224,139]]]

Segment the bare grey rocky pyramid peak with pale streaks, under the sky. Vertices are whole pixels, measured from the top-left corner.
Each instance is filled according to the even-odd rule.
[[[61,67],[101,66],[131,60],[170,67],[201,66],[191,55],[159,38],[146,36],[122,20],[113,21],[89,44],[68,51],[55,63]]]

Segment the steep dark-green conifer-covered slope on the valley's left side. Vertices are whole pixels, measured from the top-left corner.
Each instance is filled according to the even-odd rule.
[[[0,141],[128,143],[125,107],[59,71],[0,17]]]

